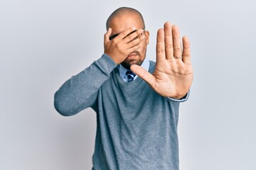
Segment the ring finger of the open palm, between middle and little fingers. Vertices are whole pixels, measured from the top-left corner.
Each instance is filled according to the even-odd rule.
[[[173,41],[174,41],[174,57],[181,58],[182,50],[181,50],[181,35],[178,30],[178,26],[172,27],[173,33]]]

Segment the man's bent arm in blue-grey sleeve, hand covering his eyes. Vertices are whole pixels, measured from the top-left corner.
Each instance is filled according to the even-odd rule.
[[[65,81],[55,93],[54,106],[61,115],[75,115],[88,107],[95,109],[97,91],[100,86],[110,79],[110,73],[117,64],[124,61],[130,52],[140,47],[144,36],[139,36],[136,40],[134,38],[143,30],[136,30],[130,34],[135,29],[132,27],[124,30],[114,40],[110,40],[111,28],[105,33],[105,54],[93,62],[90,67]]]

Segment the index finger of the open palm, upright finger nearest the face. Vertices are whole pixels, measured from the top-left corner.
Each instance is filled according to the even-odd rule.
[[[159,29],[156,35],[156,64],[166,60],[164,29]]]

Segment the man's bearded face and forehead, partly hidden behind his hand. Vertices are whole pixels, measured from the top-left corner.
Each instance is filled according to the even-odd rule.
[[[110,21],[110,28],[112,28],[111,35],[121,33],[122,31],[130,27],[135,27],[136,29],[143,29],[143,26],[144,25],[139,16],[133,13],[116,16],[112,18],[112,21]],[[124,62],[121,63],[127,69],[129,69],[132,64],[141,65],[146,57],[146,45],[149,44],[149,31],[146,30],[143,34],[145,35],[145,38],[142,41],[142,46],[139,47],[139,49],[137,49],[136,51],[131,52],[124,60]]]

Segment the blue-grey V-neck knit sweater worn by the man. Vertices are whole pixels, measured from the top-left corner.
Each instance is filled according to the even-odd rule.
[[[92,169],[178,170],[179,100],[159,96],[139,77],[124,82],[109,56],[66,81],[54,104],[62,115],[88,107],[97,113]]]

